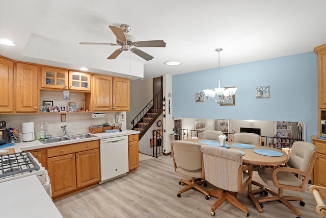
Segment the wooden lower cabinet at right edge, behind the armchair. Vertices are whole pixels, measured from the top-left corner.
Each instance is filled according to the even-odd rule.
[[[313,171],[313,184],[326,187],[326,140],[313,138],[317,148],[317,159]]]

